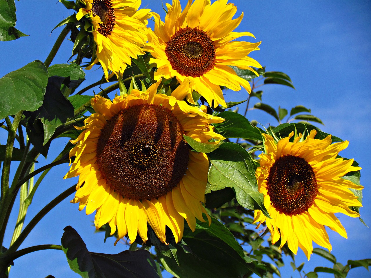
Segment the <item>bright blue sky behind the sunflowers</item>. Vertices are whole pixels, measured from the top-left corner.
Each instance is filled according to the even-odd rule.
[[[185,1],[181,3],[185,5]],[[242,39],[250,42],[262,40],[259,51],[251,56],[259,61],[267,70],[287,73],[296,87],[293,90],[281,85],[266,85],[263,102],[277,108],[279,105],[291,109],[296,105],[304,105],[312,109],[312,113],[325,123],[320,126],[324,132],[331,133],[343,140],[349,140],[349,147],[340,155],[354,158],[360,166],[361,183],[365,186],[364,208],[361,216],[371,225],[370,197],[370,119],[371,119],[371,2],[370,1],[258,1],[236,0],[237,15],[244,13],[244,18],[236,31],[248,31],[255,35]],[[147,6],[148,5],[148,6]],[[142,6],[160,13],[164,12],[160,0],[142,1]],[[0,57],[0,76],[19,69],[25,64],[39,59],[44,61],[61,29],[50,31],[72,11],[55,1],[16,1],[17,25],[23,33],[30,34],[12,42],[1,42],[0,53],[10,53]],[[64,42],[53,63],[66,63],[72,51],[72,43]],[[87,71],[89,85],[101,76],[100,69]],[[95,89],[98,92],[99,89]],[[92,91],[89,91],[92,94]],[[246,92],[226,93],[226,100],[246,99]],[[252,100],[253,101],[253,100]],[[254,100],[257,102],[258,100]],[[239,107],[244,110],[243,105]],[[247,113],[249,120],[256,119],[263,125],[276,125],[275,119],[258,110]],[[6,143],[6,135],[0,132],[0,143]],[[54,142],[55,151],[62,150],[66,139]],[[50,153],[47,162],[40,157],[40,163],[48,163],[53,159]],[[62,180],[68,171],[67,165],[60,165],[49,172],[47,178],[36,192],[34,201],[29,208],[26,221],[35,215],[50,199],[75,183],[73,179]],[[118,253],[124,250],[123,244],[113,246],[113,240],[103,243],[102,234],[94,234],[93,215],[86,216],[78,211],[78,206],[70,204],[69,199],[51,211],[32,231],[24,244],[27,247],[37,244],[60,244],[63,228],[73,226],[86,242],[88,249],[94,252]],[[14,227],[16,213],[8,229]],[[339,262],[345,264],[348,259],[371,257],[370,229],[358,219],[339,214],[339,219],[348,232],[344,239],[328,229],[332,254]],[[10,241],[11,234],[6,235]],[[303,252],[298,251],[297,264],[305,262],[305,271],[315,266],[329,266],[318,256],[313,255],[307,261]],[[293,273],[289,262],[281,269],[282,277],[299,277]],[[79,277],[72,272],[60,251],[40,251],[15,261],[10,277],[46,277],[52,274],[59,277]],[[367,277],[365,269],[353,269],[348,277]],[[333,277],[321,274],[320,277]]]

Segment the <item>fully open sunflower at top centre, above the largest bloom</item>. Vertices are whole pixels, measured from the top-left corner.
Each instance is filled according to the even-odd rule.
[[[216,107],[226,107],[220,86],[234,91],[244,87],[250,93],[249,82],[237,76],[229,66],[255,70],[260,64],[247,55],[259,50],[258,43],[235,41],[241,36],[252,36],[249,32],[232,32],[241,22],[243,13],[232,19],[237,11],[234,4],[219,0],[212,5],[209,0],[188,1],[181,11],[180,1],[173,0],[173,5],[166,4],[168,13],[165,23],[157,13],[152,13],[155,20],[154,32],[148,35],[149,43],[145,49],[154,58],[150,63],[157,64],[155,80],[177,78],[194,82],[187,94],[187,100],[194,103],[192,91],[197,91],[207,102]],[[233,41],[232,41],[233,40]],[[232,41],[232,42],[231,42]]]

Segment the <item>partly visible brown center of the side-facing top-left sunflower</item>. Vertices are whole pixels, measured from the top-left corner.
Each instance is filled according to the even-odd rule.
[[[116,16],[111,0],[94,0],[92,11],[102,21],[97,31],[105,37],[112,34],[112,31],[115,29]]]

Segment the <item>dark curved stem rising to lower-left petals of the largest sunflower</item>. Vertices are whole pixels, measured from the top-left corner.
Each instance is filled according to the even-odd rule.
[[[26,239],[27,235],[32,231],[32,229],[36,226],[37,223],[49,212],[51,211],[56,205],[66,199],[69,195],[76,191],[76,184],[68,188],[66,191],[60,193],[56,198],[54,198],[51,202],[49,202],[44,208],[42,208],[34,218],[30,221],[30,223],[24,228],[22,233],[16,239],[16,241],[9,247],[6,251],[6,254],[10,254],[15,252],[19,246],[22,244],[24,239]]]

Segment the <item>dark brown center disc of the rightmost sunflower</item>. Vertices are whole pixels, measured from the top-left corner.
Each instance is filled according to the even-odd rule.
[[[267,191],[275,209],[286,215],[308,211],[317,196],[317,182],[311,165],[294,155],[281,156],[267,179]]]

